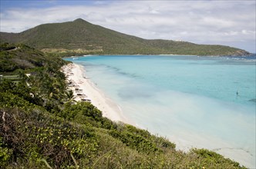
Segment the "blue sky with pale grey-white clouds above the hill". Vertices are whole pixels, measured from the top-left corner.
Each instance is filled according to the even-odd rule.
[[[76,18],[140,38],[221,44],[256,53],[255,0],[0,0],[0,31]]]

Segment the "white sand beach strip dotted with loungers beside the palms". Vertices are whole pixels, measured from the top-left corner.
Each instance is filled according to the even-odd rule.
[[[76,101],[88,99],[91,103],[103,112],[103,117],[112,121],[127,122],[123,117],[120,107],[99,91],[93,82],[86,78],[84,68],[81,65],[69,64],[62,67],[70,83],[69,88],[73,91]],[[78,95],[79,94],[79,95]]]

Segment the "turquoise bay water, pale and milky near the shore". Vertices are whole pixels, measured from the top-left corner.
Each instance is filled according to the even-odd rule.
[[[208,148],[255,167],[256,65],[251,57],[66,58],[139,128],[183,150]]]

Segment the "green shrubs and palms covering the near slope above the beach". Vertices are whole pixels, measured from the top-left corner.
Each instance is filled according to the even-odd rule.
[[[19,76],[0,81],[2,168],[244,168],[212,151],[177,151],[166,138],[104,118],[89,102],[75,104],[59,71],[66,61],[25,45],[13,49],[0,55],[41,64],[18,61],[18,69],[1,72]]]

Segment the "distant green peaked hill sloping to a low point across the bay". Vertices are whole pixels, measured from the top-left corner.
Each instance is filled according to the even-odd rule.
[[[223,45],[187,41],[147,40],[93,25],[83,19],[44,24],[21,33],[0,32],[2,42],[24,43],[44,52],[63,55],[248,55]]]

